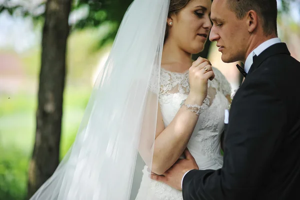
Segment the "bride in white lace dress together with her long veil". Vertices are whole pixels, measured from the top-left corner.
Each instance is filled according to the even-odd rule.
[[[199,169],[222,166],[230,86],[208,60],[191,60],[207,40],[210,6],[133,1],[72,147],[31,200],[182,199],[150,174],[163,174],[186,147]]]

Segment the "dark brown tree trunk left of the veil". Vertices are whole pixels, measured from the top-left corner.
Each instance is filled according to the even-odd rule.
[[[53,174],[59,163],[66,41],[71,0],[47,0],[42,32],[36,135],[28,170],[28,194]]]

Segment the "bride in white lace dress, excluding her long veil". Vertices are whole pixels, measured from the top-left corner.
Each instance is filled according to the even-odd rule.
[[[209,61],[201,58],[191,61],[191,54],[202,51],[208,37],[210,6],[210,0],[170,1],[151,168],[156,174],[163,174],[170,168],[186,147],[199,169],[218,169],[223,163],[219,133],[223,111],[229,104],[230,86],[215,68],[212,68],[214,79],[207,83],[213,76],[209,73]],[[205,67],[209,68],[208,72],[205,72]],[[197,106],[195,110],[189,109],[192,105],[199,106],[199,109]],[[136,199],[145,199],[139,195],[143,196],[146,191],[146,199],[182,199],[181,191],[150,180],[147,168],[143,169]]]

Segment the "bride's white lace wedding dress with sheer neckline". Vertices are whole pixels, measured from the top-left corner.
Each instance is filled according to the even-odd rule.
[[[187,144],[199,169],[218,169],[223,163],[220,153],[220,133],[224,125],[224,110],[229,104],[225,96],[230,95],[231,90],[225,77],[215,68],[213,72],[215,78],[208,81],[208,95],[204,101],[208,108],[200,114]],[[188,71],[174,73],[161,69],[159,104],[165,127],[172,121],[180,108],[181,101],[187,97],[188,93]],[[150,179],[146,170],[147,166],[143,169],[136,200],[182,200],[180,190]],[[147,193],[146,199],[144,199],[145,192]]]

